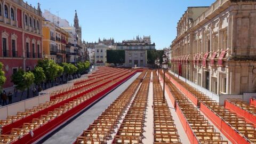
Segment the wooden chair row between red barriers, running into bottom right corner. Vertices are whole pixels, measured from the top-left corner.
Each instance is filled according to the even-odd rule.
[[[228,124],[234,127],[237,131],[242,133],[246,138],[252,142],[256,142],[256,130],[252,123],[247,123],[243,117],[238,117],[235,113],[232,113],[229,109],[221,106],[215,100],[212,100],[204,93],[195,89],[193,86],[181,81],[172,74],[168,73],[172,78],[175,79],[182,86],[195,95],[199,101],[205,103],[206,106],[210,107],[220,118],[224,119]]]

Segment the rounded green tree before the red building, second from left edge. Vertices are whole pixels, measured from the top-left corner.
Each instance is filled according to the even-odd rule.
[[[23,69],[19,69],[11,76],[11,79],[18,90],[24,91],[34,83],[35,76],[31,71],[25,72]]]

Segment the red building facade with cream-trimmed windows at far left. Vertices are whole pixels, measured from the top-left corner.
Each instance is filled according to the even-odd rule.
[[[35,9],[22,0],[0,2],[1,52],[6,82],[12,87],[11,75],[18,69],[34,69],[42,58],[41,9]]]

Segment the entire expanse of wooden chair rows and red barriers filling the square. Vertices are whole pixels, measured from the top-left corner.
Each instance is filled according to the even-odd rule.
[[[158,81],[156,70],[99,67],[71,86],[51,92],[49,101],[0,120],[0,143],[33,143],[51,137],[53,130],[93,103],[104,102],[99,99],[110,97],[106,95],[135,74],[139,76],[92,123],[79,123],[86,129],[78,132],[73,143],[256,142],[255,98],[226,99],[221,106],[171,73],[165,75],[163,97],[162,71]],[[181,139],[180,133],[188,139]]]

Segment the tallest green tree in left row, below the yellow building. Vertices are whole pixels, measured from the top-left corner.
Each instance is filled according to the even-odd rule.
[[[57,63],[53,60],[39,60],[37,66],[43,68],[47,80],[53,80],[58,77],[58,72],[60,72],[58,71]]]

